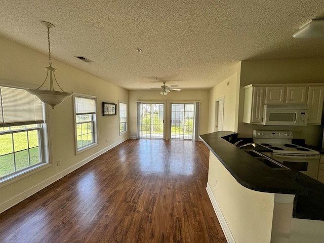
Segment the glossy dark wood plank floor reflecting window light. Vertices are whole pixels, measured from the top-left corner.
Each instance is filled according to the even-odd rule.
[[[226,242],[202,142],[135,140],[0,214],[0,242]]]

